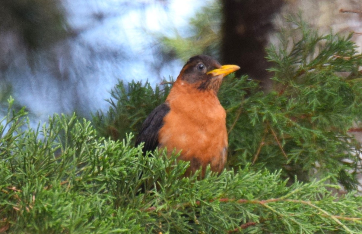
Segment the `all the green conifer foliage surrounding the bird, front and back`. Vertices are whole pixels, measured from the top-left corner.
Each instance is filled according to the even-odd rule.
[[[9,99],[0,233],[362,233],[362,196],[350,173],[361,165],[360,144],[348,134],[361,118],[361,55],[349,38],[298,26],[300,40],[287,35],[269,51],[274,91],[226,78],[219,98],[228,168],[202,180],[182,177],[188,162],[176,163],[177,155],[143,156],[125,134],[138,131],[168,86],[120,83],[94,126],[62,115],[30,129]],[[334,195],[337,181],[351,191]]]

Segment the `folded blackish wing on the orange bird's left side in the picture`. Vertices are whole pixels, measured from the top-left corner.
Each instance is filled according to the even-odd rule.
[[[146,151],[153,151],[158,146],[158,135],[161,127],[163,126],[163,118],[170,111],[167,103],[163,103],[156,107],[142,124],[136,139],[135,146],[144,142],[143,153]]]

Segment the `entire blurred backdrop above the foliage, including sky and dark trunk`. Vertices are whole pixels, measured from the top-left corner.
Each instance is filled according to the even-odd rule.
[[[90,118],[108,109],[118,80],[155,86],[201,53],[270,90],[265,47],[293,27],[284,16],[354,32],[361,47],[361,9],[360,0],[2,0],[0,113],[11,95],[35,125],[53,113]]]

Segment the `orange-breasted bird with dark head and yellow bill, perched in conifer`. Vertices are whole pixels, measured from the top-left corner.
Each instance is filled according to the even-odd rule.
[[[220,173],[227,158],[226,112],[217,97],[223,77],[238,70],[236,65],[220,65],[206,55],[191,57],[182,68],[166,101],[144,121],[136,146],[143,152],[157,147],[167,154],[180,152],[177,160],[190,161],[185,175],[208,164]]]

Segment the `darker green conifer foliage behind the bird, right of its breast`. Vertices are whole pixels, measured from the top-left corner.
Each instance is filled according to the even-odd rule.
[[[351,188],[355,173],[345,171],[361,168],[360,143],[349,134],[362,116],[361,54],[350,36],[320,36],[302,22],[291,23],[298,28],[284,32],[280,47],[268,51],[273,91],[262,94],[243,78],[220,90],[228,112],[229,164],[283,169],[300,181],[318,173]],[[296,32],[301,39],[292,41]]]

